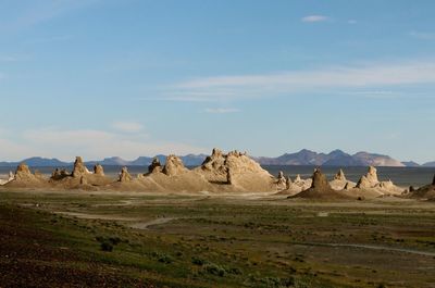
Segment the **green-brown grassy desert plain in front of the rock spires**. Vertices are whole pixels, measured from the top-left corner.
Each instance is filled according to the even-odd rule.
[[[0,287],[434,287],[435,203],[0,191]]]

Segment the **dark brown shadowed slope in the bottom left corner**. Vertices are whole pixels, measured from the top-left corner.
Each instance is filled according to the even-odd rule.
[[[1,287],[157,287],[40,229],[50,217],[48,213],[0,204]]]

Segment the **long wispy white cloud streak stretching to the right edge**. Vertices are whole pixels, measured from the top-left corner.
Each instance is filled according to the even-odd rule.
[[[435,84],[434,60],[331,66],[259,75],[200,77],[179,83],[173,89],[195,100],[228,100],[324,89],[377,90],[380,89],[377,87],[419,84]]]

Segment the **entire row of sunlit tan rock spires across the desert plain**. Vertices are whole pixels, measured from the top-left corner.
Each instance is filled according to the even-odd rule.
[[[285,195],[290,198],[371,198],[384,196],[405,196],[414,198],[435,198],[435,177],[431,185],[420,189],[410,188],[407,192],[393,181],[380,181],[375,167],[369,167],[358,183],[346,178],[339,170],[334,179],[328,181],[320,168],[313,176],[302,179],[297,175],[293,180],[289,175],[279,172],[273,177],[253,161],[247,153],[232,151],[223,153],[213,149],[203,163],[192,170],[185,167],[181,158],[169,155],[162,165],[153,159],[148,172],[136,177],[123,167],[117,179],[104,175],[100,164],[90,172],[82,158],[77,156],[73,171],[57,168],[49,179],[40,173],[32,173],[27,165],[20,164],[15,174],[0,185],[23,188],[84,189],[84,190],[130,190],[130,191],[185,191],[185,192],[263,192]]]

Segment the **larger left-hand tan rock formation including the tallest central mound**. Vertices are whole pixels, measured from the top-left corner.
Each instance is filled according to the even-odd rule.
[[[148,172],[137,177],[132,176],[127,167],[123,167],[117,179],[107,177],[99,164],[90,172],[80,156],[76,158],[71,173],[57,168],[48,179],[38,173],[33,174],[23,163],[13,178],[2,185],[20,188],[174,192],[266,192],[274,189],[273,176],[246,153],[232,151],[225,154],[219,149],[213,149],[202,165],[194,170],[185,167],[179,156],[169,155],[164,165],[156,158]]]

